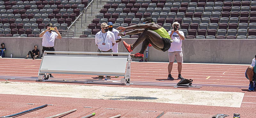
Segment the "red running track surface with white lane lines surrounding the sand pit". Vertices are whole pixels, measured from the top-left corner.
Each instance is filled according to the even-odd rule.
[[[37,77],[41,59],[0,59],[0,76],[26,76]],[[132,82],[169,82],[177,83],[179,80],[167,80],[168,63],[153,62],[132,62],[131,81]],[[65,97],[47,97],[47,96],[29,96],[1,94],[0,96],[0,116],[14,114],[30,108],[35,108],[44,104],[53,104],[30,113],[20,115],[17,118],[41,118],[56,115],[68,110],[77,109],[65,118],[76,118],[95,112],[95,118],[108,118],[121,114],[121,118],[207,118],[216,114],[228,114],[232,117],[234,113],[239,113],[243,118],[255,117],[254,106],[256,105],[255,92],[249,92],[249,81],[244,77],[244,72],[249,65],[232,64],[194,64],[183,63],[182,76],[187,79],[193,79],[193,85],[203,85],[202,88],[173,88],[158,86],[122,86],[122,87],[144,87],[144,88],[163,88],[163,89],[185,89],[198,91],[223,91],[223,92],[242,92],[244,98],[240,108],[233,107],[214,107],[203,105],[169,104],[154,102],[136,102],[136,101],[118,101],[101,99],[81,99]],[[174,63],[172,75],[176,78],[178,75],[177,63]],[[67,78],[75,80],[92,79],[97,76],[92,75],[68,75],[54,74],[56,78]],[[120,80],[112,78],[111,80]],[[5,81],[0,79],[0,81]],[[18,82],[35,82],[24,80],[8,80]],[[51,83],[51,82],[38,82]],[[63,83],[54,83],[63,84]],[[77,83],[65,83],[76,84]],[[113,86],[118,85],[93,85],[88,86]],[[231,85],[231,86],[230,86]],[[193,96],[191,96],[193,97]],[[207,100],[206,100],[207,101]],[[28,105],[27,103],[34,103]],[[92,108],[84,108],[92,107]],[[106,109],[113,108],[113,109]],[[17,110],[18,109],[18,110]],[[156,112],[152,112],[156,111]],[[92,118],[93,118],[92,117]]]

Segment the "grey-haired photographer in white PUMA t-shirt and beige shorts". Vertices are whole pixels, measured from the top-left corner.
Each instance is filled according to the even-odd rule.
[[[169,55],[169,65],[168,65],[168,78],[169,80],[174,80],[171,75],[172,72],[172,65],[174,59],[176,57],[176,61],[178,63],[178,79],[182,79],[181,76],[181,69],[182,69],[182,62],[183,62],[183,54],[182,54],[182,40],[185,39],[183,31],[179,31],[180,24],[178,22],[174,22],[172,24],[172,30],[168,31],[171,39],[173,40],[171,47],[168,50]]]

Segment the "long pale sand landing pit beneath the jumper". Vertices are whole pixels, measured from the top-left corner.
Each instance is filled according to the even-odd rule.
[[[179,89],[102,87],[48,83],[0,82],[0,94],[240,107],[244,93]],[[168,88],[168,87],[167,87]]]

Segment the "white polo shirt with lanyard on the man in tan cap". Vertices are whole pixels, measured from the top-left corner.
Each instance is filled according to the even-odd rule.
[[[103,45],[105,43],[105,45]],[[116,43],[114,33],[108,31],[106,33],[102,33],[99,31],[95,35],[95,45],[98,45],[98,48],[102,51],[108,51],[113,48],[112,43]]]

